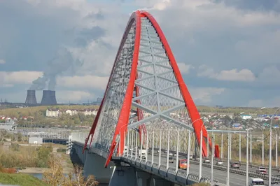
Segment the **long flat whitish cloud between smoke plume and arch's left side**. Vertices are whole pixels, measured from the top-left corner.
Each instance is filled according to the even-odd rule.
[[[105,90],[108,83],[109,77],[99,76],[64,76],[57,79],[57,85],[59,87],[70,87],[70,88],[87,88],[87,89],[98,89]]]

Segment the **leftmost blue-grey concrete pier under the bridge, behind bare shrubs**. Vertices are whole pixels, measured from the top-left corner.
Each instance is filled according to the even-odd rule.
[[[83,166],[85,178],[93,175],[100,185],[109,183],[113,173],[113,169],[110,169],[110,166],[114,166],[112,162],[110,162],[108,168],[104,168],[106,159],[92,152],[88,152],[88,150],[85,150],[83,159],[85,159]]]

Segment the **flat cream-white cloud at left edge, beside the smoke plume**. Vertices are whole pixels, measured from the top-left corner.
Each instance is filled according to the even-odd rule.
[[[30,84],[34,78],[42,76],[40,71],[0,71],[0,85]]]

